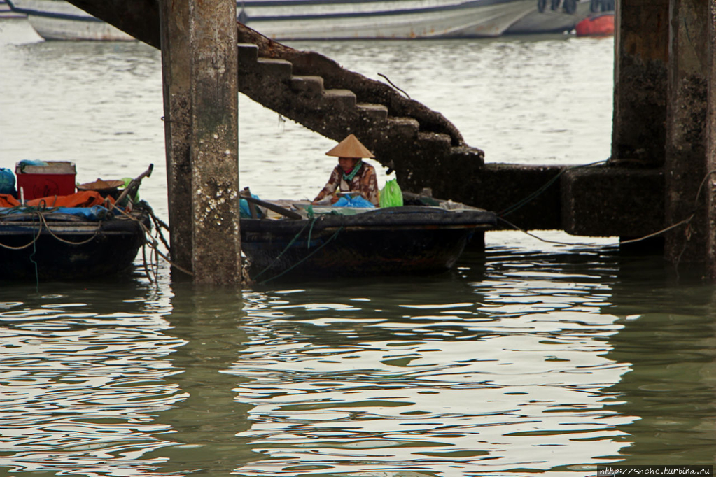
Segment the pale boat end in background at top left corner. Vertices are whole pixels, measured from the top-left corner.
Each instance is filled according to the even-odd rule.
[[[32,28],[46,40],[135,41],[64,0],[6,0],[10,8],[27,15]]]

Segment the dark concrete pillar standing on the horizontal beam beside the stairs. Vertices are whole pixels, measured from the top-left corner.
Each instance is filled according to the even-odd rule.
[[[669,0],[616,0],[611,159],[664,163]]]

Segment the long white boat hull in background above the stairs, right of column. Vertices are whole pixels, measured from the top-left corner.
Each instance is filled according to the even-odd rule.
[[[535,0],[248,0],[238,20],[276,40],[500,36]]]

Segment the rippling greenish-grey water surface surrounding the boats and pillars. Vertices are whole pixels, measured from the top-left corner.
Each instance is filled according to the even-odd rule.
[[[296,44],[392,82],[493,162],[606,159],[610,39]],[[158,51],[0,23],[0,167],[156,166]],[[241,184],[312,197],[333,142],[241,97]],[[300,167],[296,167],[300,166]],[[298,172],[300,170],[300,172]],[[380,180],[385,180],[384,174]],[[509,187],[509,185],[505,185]],[[588,476],[708,464],[715,288],[614,239],[488,233],[451,272],[202,290],[0,287],[0,476]],[[584,245],[580,245],[584,244]]]

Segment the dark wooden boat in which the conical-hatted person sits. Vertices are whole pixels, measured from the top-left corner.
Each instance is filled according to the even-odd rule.
[[[314,206],[312,216],[304,209],[293,218],[241,218],[241,249],[251,279],[448,270],[472,235],[497,221],[493,212],[449,210],[444,204],[335,210],[349,208]]]

